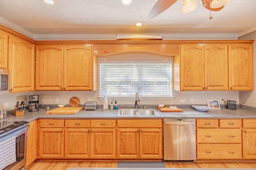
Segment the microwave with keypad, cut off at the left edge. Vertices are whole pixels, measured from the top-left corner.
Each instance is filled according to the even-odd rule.
[[[10,71],[0,69],[0,94],[9,94]]]

